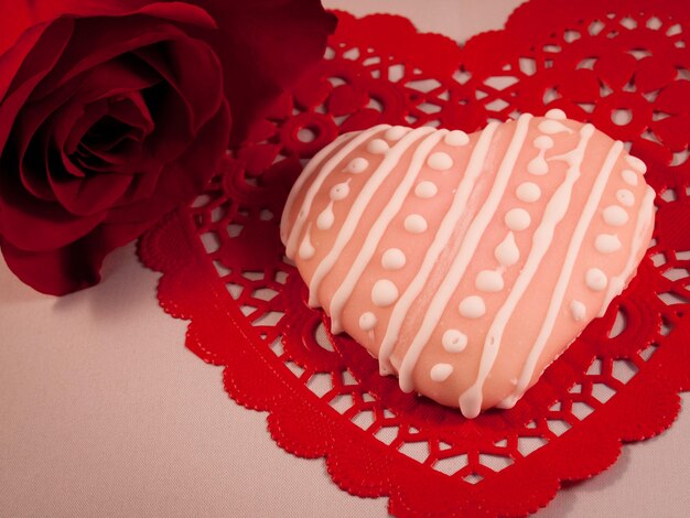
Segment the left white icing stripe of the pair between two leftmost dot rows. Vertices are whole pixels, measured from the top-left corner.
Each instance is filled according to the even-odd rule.
[[[343,226],[337,233],[337,237],[335,238],[333,248],[323,258],[321,263],[316,267],[314,274],[312,276],[312,279],[309,283],[310,306],[319,306],[319,285],[321,284],[321,281],[331,271],[339,255],[343,252],[343,249],[345,248],[347,242],[349,242],[349,239],[353,237],[353,234],[357,228],[359,219],[362,219],[362,215],[365,213],[367,206],[371,202],[371,198],[374,197],[378,188],[398,164],[405,152],[412,144],[414,144],[420,137],[423,137],[433,131],[435,131],[435,129],[429,127],[417,128],[416,130],[410,131],[402,139],[400,139],[396,143],[396,145],[390,149],[390,151],[388,151],[386,158],[380,163],[378,169],[374,171],[374,173],[371,173],[371,176],[369,176],[367,182],[362,187],[362,191],[359,191],[359,194],[349,207],[347,217],[345,218]]]

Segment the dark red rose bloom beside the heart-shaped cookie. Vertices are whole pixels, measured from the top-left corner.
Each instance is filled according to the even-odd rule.
[[[2,3],[0,248],[52,294],[198,194],[333,29],[317,0]]]

